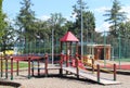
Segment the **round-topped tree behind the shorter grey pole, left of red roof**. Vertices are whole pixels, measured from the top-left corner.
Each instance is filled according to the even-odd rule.
[[[51,29],[51,37],[52,37],[52,54],[53,52],[57,51],[56,45],[57,40],[64,35],[65,30],[62,26],[65,24],[66,20],[62,16],[61,13],[51,14],[49,18],[50,29]],[[53,59],[53,56],[52,56]]]

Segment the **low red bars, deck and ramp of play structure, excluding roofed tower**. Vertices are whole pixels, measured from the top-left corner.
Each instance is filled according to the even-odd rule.
[[[114,80],[104,80],[100,77],[100,65],[96,66],[96,70],[98,71],[98,76],[90,76],[89,74],[84,73],[86,70],[82,68],[82,63],[79,62],[80,60],[78,59],[78,55],[76,54],[75,55],[75,62],[73,62],[73,64],[70,64],[68,62],[68,60],[64,60],[64,56],[66,55],[63,55],[61,54],[61,60],[60,60],[60,66],[58,67],[55,67],[55,70],[60,70],[60,75],[62,76],[63,75],[63,71],[66,71],[67,73],[70,72],[73,74],[76,74],[77,75],[77,78],[79,78],[79,76],[82,76],[82,77],[86,77],[86,78],[89,78],[91,80],[94,80],[94,81],[98,81],[100,84],[104,84],[104,85],[108,85],[108,84],[120,84],[119,81],[115,81],[116,80],[116,65],[114,65]],[[40,67],[39,64],[41,63],[40,61],[43,59],[44,61],[44,66],[43,67]],[[49,70],[54,70],[53,68],[50,68],[48,66],[48,59],[49,59],[49,55],[46,54],[44,56],[35,56],[35,55],[30,55],[30,56],[10,56],[10,59],[6,59],[5,62],[11,62],[11,68],[9,70],[8,67],[5,68],[5,71],[2,70],[2,65],[1,64],[1,77],[3,77],[3,74],[5,73],[5,78],[9,77],[9,73],[10,73],[10,77],[11,79],[14,78],[14,73],[16,72],[16,75],[18,76],[20,75],[20,67],[18,67],[18,63],[20,61],[27,61],[28,63],[28,68],[27,68],[27,77],[28,78],[31,78],[32,76],[35,76],[36,74],[34,74],[34,71],[37,70],[37,75],[38,76],[41,76],[41,75],[44,75],[46,77],[49,75]],[[1,59],[1,62],[3,61],[4,59]],[[17,64],[17,67],[16,67],[16,71],[13,70],[13,62],[16,61],[16,64]],[[37,67],[34,66],[34,62],[37,62]],[[63,66],[63,63],[65,62],[65,64],[67,64],[66,66]],[[75,64],[75,65],[74,65]],[[8,66],[8,65],[6,65]],[[42,72],[44,72],[43,74],[41,74],[41,70]],[[91,74],[94,74],[94,70],[92,70],[92,73]],[[83,72],[84,71],[84,72]],[[88,72],[88,71],[87,71]],[[67,74],[66,73],[66,74]],[[95,75],[95,74],[94,74]],[[104,83],[105,81],[105,83]]]

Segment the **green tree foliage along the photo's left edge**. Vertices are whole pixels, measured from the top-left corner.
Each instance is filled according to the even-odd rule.
[[[13,43],[14,39],[14,29],[10,22],[8,21],[8,16],[2,11],[2,1],[0,0],[0,47],[1,51],[5,54],[5,50]]]

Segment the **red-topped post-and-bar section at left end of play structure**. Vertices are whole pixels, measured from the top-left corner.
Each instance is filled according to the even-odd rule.
[[[44,73],[48,73],[47,72],[47,63],[48,63],[48,60],[47,60],[47,55],[44,56],[39,56],[39,55],[12,55],[12,56],[1,56],[0,58],[0,68],[1,68],[1,77],[5,76],[5,78],[9,77],[9,73],[10,73],[10,76],[11,76],[11,79],[13,79],[13,75],[14,73],[16,72],[16,75],[18,76],[20,75],[20,62],[24,61],[24,62],[27,62],[28,64],[28,78],[30,78],[30,71],[31,71],[31,74],[34,76],[34,62],[37,62],[37,66],[38,66],[38,74],[39,74],[39,63],[40,63],[40,60],[43,59],[44,60],[44,68],[46,68],[46,72]],[[4,62],[4,63],[3,63]],[[16,70],[13,70],[14,68],[14,62],[16,62]],[[9,63],[10,63],[10,68],[9,68]],[[5,67],[3,67],[3,65],[5,65]],[[31,68],[30,68],[31,67]],[[3,75],[5,73],[5,75]]]

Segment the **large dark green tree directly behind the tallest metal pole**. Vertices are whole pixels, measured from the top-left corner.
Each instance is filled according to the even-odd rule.
[[[73,5],[74,12],[76,14],[76,22],[74,23],[74,33],[80,38],[80,27],[81,27],[81,11],[80,11],[80,0],[77,1],[77,4]],[[87,40],[87,37],[92,38],[92,34],[95,29],[95,18],[94,14],[91,11],[87,11],[88,7],[82,2],[82,18],[83,18],[83,39]]]

